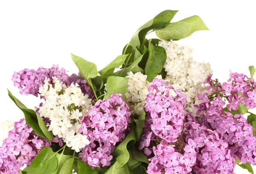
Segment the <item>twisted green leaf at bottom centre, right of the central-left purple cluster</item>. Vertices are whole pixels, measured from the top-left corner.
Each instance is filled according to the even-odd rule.
[[[116,161],[119,162],[121,167],[124,166],[129,160],[130,155],[127,150],[129,145],[135,144],[135,142],[135,132],[134,128],[132,127],[131,131],[128,133],[125,139],[116,147],[115,151],[113,152],[113,157],[116,157]]]

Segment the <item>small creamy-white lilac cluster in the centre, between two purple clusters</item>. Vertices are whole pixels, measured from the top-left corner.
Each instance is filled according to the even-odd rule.
[[[128,84],[125,96],[130,106],[131,114],[140,115],[145,104],[145,98],[148,95],[148,81],[147,75],[137,72],[129,72]]]

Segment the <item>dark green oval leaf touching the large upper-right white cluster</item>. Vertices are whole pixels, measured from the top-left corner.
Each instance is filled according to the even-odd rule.
[[[163,65],[166,61],[166,50],[162,46],[153,46],[151,41],[148,43],[148,61],[145,67],[145,75],[147,80],[152,82],[158,73],[163,69]]]

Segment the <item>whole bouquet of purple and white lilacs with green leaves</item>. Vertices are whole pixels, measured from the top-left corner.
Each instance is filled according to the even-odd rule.
[[[29,109],[8,90],[24,118],[5,129],[0,174],[253,174],[255,68],[212,79],[210,64],[175,42],[207,26],[198,16],[171,23],[176,13],[141,26],[100,71],[71,54],[77,74],[15,72],[20,94],[41,103]],[[158,38],[145,38],[152,31]]]

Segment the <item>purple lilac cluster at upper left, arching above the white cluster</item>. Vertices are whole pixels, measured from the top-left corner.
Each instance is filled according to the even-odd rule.
[[[39,87],[44,85],[45,78],[50,80],[49,83],[52,83],[52,77],[54,76],[67,85],[78,83],[84,94],[88,94],[90,98],[93,97],[93,91],[84,78],[76,74],[67,75],[66,70],[64,68],[60,69],[59,65],[53,65],[51,68],[39,67],[38,70],[24,69],[15,72],[12,81],[15,87],[19,88],[20,94],[38,96]]]

